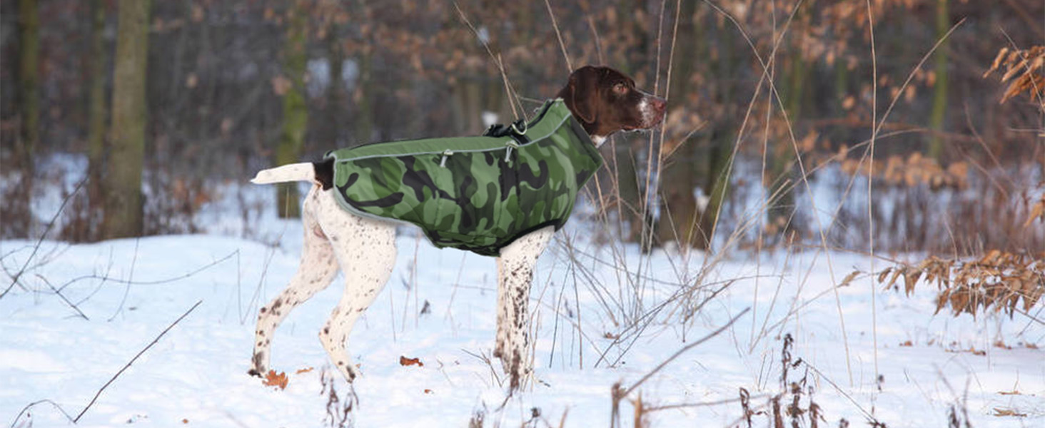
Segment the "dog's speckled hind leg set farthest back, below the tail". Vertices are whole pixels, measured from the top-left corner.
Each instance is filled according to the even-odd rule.
[[[258,313],[257,329],[254,333],[254,357],[251,370],[254,376],[264,376],[269,371],[269,346],[272,342],[276,328],[286,317],[291,310],[304,303],[318,291],[326,288],[338,275],[338,263],[333,247],[327,240],[323,230],[316,219],[314,205],[317,187],[305,198],[302,210],[305,238],[301,248],[301,264],[291,279],[289,285],[268,305],[262,306]]]

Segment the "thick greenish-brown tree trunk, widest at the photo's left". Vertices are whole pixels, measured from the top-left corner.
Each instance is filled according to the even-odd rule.
[[[120,0],[113,74],[112,149],[104,177],[102,238],[142,231],[141,169],[145,157],[145,70],[149,0]]]

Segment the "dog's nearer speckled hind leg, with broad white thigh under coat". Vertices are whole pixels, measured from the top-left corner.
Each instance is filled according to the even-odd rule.
[[[331,195],[321,199],[320,218],[345,272],[345,292],[320,331],[330,360],[351,382],[358,370],[348,354],[348,335],[363,311],[385,288],[395,267],[395,224],[363,218],[340,207]]]

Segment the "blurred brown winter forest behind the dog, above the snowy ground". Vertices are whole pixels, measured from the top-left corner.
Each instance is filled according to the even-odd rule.
[[[572,68],[603,64],[669,99],[663,128],[603,148],[591,200],[617,220],[607,239],[866,249],[872,237],[961,255],[1045,243],[1028,222],[1045,166],[1038,0],[0,7],[0,237],[39,236],[49,218],[33,197],[82,181],[55,156],[89,177],[56,219],[62,239],[191,233],[216,183],[331,148],[477,135],[485,113],[513,120]],[[276,191],[281,214],[297,215],[296,192]]]

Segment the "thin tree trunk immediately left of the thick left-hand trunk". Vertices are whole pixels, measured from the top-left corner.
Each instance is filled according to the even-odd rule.
[[[91,55],[88,58],[90,69],[90,89],[88,93],[88,134],[87,134],[87,160],[88,160],[88,182],[87,194],[90,201],[91,224],[94,219],[101,218],[102,204],[102,171],[106,170],[106,2],[104,0],[91,1]],[[80,238],[87,240],[97,239],[97,231],[88,231],[86,236]]]

